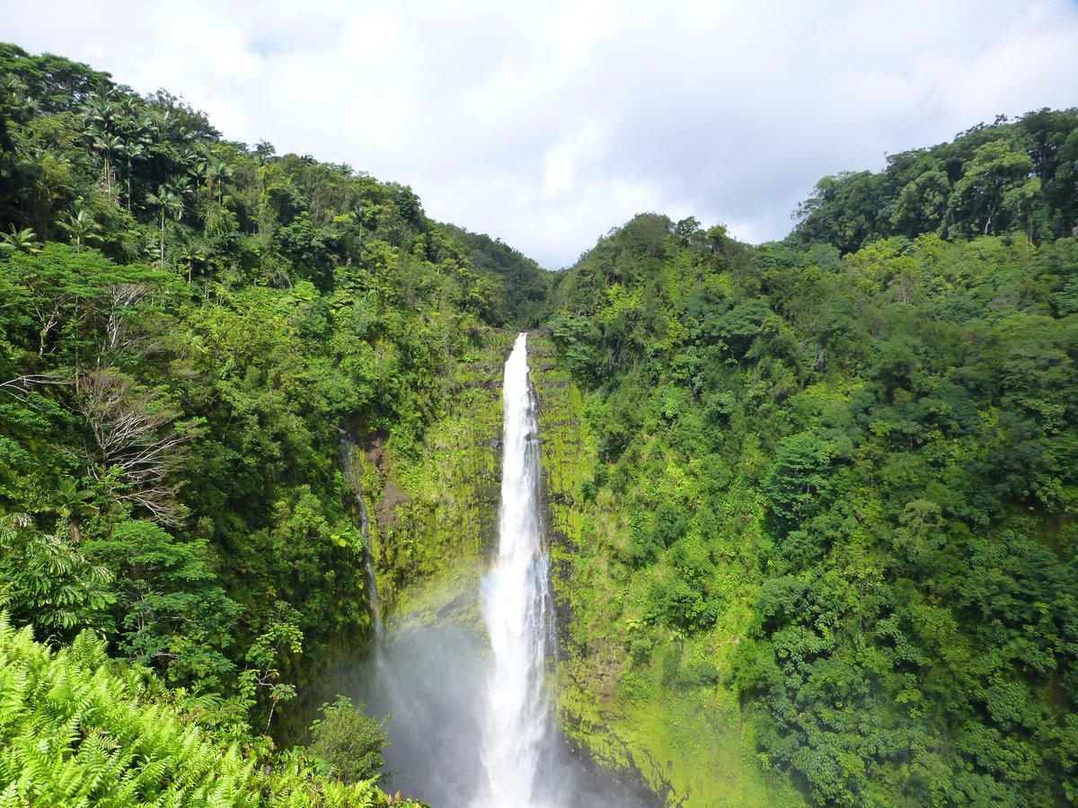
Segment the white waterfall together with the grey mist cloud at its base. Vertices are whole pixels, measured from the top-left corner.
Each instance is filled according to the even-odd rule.
[[[506,363],[498,559],[480,593],[489,643],[448,621],[413,626],[378,637],[371,658],[340,684],[369,713],[392,716],[391,790],[434,808],[652,806],[646,791],[576,758],[551,715],[544,671],[553,611],[525,339]]]

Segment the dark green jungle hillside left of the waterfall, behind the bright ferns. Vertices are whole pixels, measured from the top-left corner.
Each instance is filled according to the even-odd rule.
[[[167,93],[13,45],[0,74],[3,609],[258,742],[369,630],[342,443],[414,443],[545,275]]]

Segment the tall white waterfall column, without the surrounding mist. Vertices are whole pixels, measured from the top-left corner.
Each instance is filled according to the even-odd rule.
[[[506,362],[498,562],[483,582],[494,652],[487,680],[478,808],[531,808],[549,749],[543,691],[547,561],[540,546],[539,444],[525,335]]]

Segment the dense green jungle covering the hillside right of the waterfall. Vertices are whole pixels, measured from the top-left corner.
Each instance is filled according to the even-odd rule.
[[[595,681],[612,635],[623,700],[731,687],[820,805],[1078,800],[1076,147],[1075,110],[978,127],[785,242],[642,214],[557,278]]]

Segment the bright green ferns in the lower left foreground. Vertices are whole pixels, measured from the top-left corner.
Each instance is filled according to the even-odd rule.
[[[0,614],[0,699],[4,805],[389,804],[374,785],[376,768],[356,772],[365,780],[330,776],[335,767],[315,755],[321,746],[332,753],[332,743],[316,744],[315,755],[274,755],[219,739],[202,718],[212,699],[169,691],[149,671],[109,659],[89,630],[53,652]],[[322,726],[342,720],[334,706]],[[316,735],[322,742],[326,734]]]

